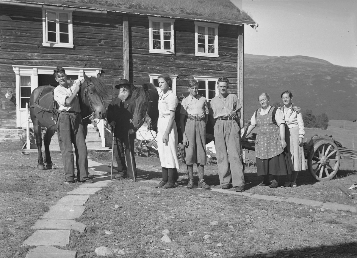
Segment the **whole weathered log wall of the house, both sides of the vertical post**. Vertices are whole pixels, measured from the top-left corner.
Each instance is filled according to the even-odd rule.
[[[42,9],[0,4],[0,128],[16,125],[16,106],[5,98],[8,89],[16,94],[12,65],[100,67],[111,93],[106,104],[117,96],[112,86],[124,75],[122,14],[74,11],[72,18],[74,48],[42,47]],[[226,76],[229,92],[237,93],[238,34],[243,26],[218,26],[215,58],[195,56],[194,21],[175,20],[175,55],[149,53],[146,15],[128,15],[128,22],[129,78],[135,85],[149,82],[149,73],[168,72],[178,75],[177,96],[187,96],[193,76]]]

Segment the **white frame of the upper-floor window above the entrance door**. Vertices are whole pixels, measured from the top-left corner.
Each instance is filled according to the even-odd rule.
[[[49,42],[47,40],[47,11],[56,12],[56,42]],[[59,42],[60,40],[60,22],[59,13],[68,14],[68,43]],[[73,24],[72,24],[72,10],[64,10],[60,8],[43,8],[42,9],[42,46],[44,47],[67,47],[73,48]]]

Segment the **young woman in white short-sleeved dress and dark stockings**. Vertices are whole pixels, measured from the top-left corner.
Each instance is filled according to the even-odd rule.
[[[162,167],[162,181],[156,188],[172,188],[178,178],[177,128],[175,110],[177,97],[171,91],[170,74],[163,73],[157,77],[161,93],[159,94],[159,120],[157,121],[157,149]]]

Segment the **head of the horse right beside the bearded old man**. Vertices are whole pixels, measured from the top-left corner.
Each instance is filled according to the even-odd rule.
[[[140,128],[145,122],[146,115],[150,109],[149,89],[147,85],[144,85],[143,88],[138,88],[134,84],[131,84],[131,91],[131,103],[134,106],[134,114],[130,122],[135,128]]]

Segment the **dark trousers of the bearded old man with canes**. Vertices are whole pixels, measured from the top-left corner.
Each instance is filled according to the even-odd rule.
[[[115,156],[115,160],[118,165],[119,174],[126,175],[128,172],[128,176],[133,177],[132,176],[133,168],[131,167],[131,159],[130,159],[130,155],[132,155],[132,154],[129,151],[129,140],[128,140],[127,134],[123,134],[123,135],[126,135],[126,139],[124,138],[124,140],[114,137],[114,156]],[[135,134],[130,135],[130,146],[131,146],[131,150],[133,153],[134,153],[135,138],[136,138]],[[125,164],[125,157],[126,157],[126,161],[128,163],[127,166]],[[135,155],[132,155],[132,159],[133,159],[133,163],[134,163],[134,171],[136,172]],[[136,176],[136,174],[135,174],[135,176]]]

